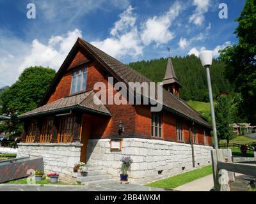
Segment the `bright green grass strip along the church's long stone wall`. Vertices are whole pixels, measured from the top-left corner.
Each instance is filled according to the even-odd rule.
[[[181,173],[174,177],[167,179],[157,180],[147,184],[146,186],[150,187],[161,187],[164,189],[174,189],[175,187],[181,186],[183,184],[189,183],[193,180],[200,179],[212,173],[212,165],[199,168],[197,170],[189,171],[186,173]]]

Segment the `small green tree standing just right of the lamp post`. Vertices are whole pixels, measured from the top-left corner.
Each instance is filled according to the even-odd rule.
[[[234,112],[232,111],[232,104],[230,103],[230,98],[227,96],[219,96],[216,99],[215,105],[216,114],[216,128],[218,141],[227,140],[227,144],[236,135],[232,132],[231,124],[233,121]]]

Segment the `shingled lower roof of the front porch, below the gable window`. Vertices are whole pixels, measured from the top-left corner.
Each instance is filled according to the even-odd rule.
[[[83,92],[75,96],[58,99],[52,103],[47,103],[34,110],[19,115],[19,119],[26,117],[35,117],[36,115],[45,115],[48,113],[58,113],[64,110],[85,110],[88,112],[100,113],[103,115],[111,115],[106,106],[102,103],[96,105],[93,102],[95,93],[93,91]],[[100,100],[99,100],[100,101]]]

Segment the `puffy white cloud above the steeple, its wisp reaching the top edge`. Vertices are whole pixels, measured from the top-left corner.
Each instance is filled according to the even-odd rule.
[[[184,6],[176,1],[168,12],[159,17],[154,16],[153,18],[149,18],[143,24],[143,32],[141,34],[143,43],[150,45],[150,43],[156,42],[158,46],[172,40],[174,33],[169,31],[169,28],[173,20],[179,16],[182,10],[184,10]]]

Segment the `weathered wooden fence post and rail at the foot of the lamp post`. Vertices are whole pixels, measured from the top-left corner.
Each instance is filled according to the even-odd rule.
[[[254,152],[256,161],[256,152]],[[230,191],[230,181],[235,181],[234,172],[256,177],[255,164],[233,163],[230,149],[212,150],[212,170],[215,191]]]

